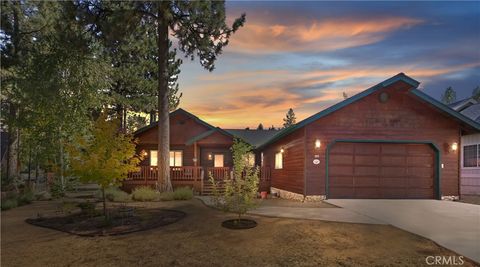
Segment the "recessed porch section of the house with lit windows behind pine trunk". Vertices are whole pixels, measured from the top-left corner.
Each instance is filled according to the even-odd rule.
[[[253,147],[270,139],[277,131],[224,130],[208,124],[184,109],[170,113],[170,176],[173,186],[191,186],[198,192],[210,190],[209,177],[224,179],[232,168],[230,147],[235,137]],[[137,153],[144,156],[140,171],[130,173],[123,189],[131,191],[139,185],[154,186],[157,182],[158,124],[153,123],[134,133]],[[255,156],[249,155],[251,164]],[[261,169],[261,187],[269,189],[269,171]]]

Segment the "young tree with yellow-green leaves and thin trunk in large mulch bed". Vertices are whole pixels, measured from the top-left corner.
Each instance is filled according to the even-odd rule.
[[[130,135],[118,131],[119,120],[107,120],[102,114],[91,134],[77,135],[67,149],[71,172],[83,182],[95,182],[102,188],[103,214],[107,216],[105,188],[116,185],[138,169],[140,157]]]

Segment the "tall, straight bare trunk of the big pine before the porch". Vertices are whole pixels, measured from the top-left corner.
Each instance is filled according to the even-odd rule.
[[[170,180],[170,119],[168,103],[168,20],[169,2],[158,2],[158,183],[161,191],[172,191]]]

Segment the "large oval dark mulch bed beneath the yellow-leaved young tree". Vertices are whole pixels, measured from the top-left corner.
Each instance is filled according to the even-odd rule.
[[[109,212],[108,220],[101,215],[75,213],[61,217],[26,219],[29,224],[79,236],[111,236],[144,231],[175,223],[186,216],[178,210],[137,209],[132,216]]]

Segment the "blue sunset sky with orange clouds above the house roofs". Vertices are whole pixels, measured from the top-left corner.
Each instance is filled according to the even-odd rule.
[[[480,85],[480,2],[227,1],[246,13],[213,72],[184,59],[180,107],[222,128],[297,122],[404,72],[457,99]]]

